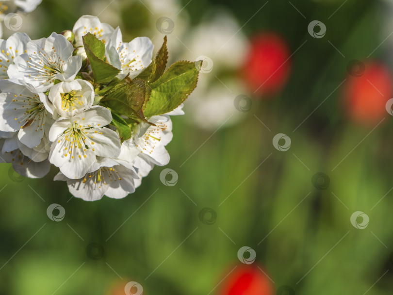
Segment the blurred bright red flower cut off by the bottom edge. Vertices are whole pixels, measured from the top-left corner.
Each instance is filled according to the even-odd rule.
[[[254,264],[241,265],[224,280],[220,295],[273,295],[270,280]]]

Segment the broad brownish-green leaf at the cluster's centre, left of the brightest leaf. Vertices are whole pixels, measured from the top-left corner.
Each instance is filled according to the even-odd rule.
[[[103,95],[100,104],[135,121],[147,122],[142,109],[149,93],[150,89],[146,81],[131,80],[127,76]]]

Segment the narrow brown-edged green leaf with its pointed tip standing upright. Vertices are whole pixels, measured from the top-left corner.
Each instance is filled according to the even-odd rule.
[[[168,49],[166,47],[166,36],[164,36],[164,43],[158,50],[156,57],[137,78],[146,80],[149,83],[157,81],[164,74],[167,61]]]

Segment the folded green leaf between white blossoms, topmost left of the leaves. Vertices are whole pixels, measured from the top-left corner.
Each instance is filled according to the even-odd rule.
[[[83,36],[84,50],[86,51],[91,69],[93,70],[94,82],[108,83],[120,73],[120,70],[109,65],[103,59],[105,57],[105,45],[92,33]]]

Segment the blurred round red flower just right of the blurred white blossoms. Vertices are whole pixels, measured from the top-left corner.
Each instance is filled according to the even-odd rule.
[[[274,32],[258,33],[250,43],[244,77],[250,90],[265,98],[278,92],[287,82],[291,68],[289,48]]]

